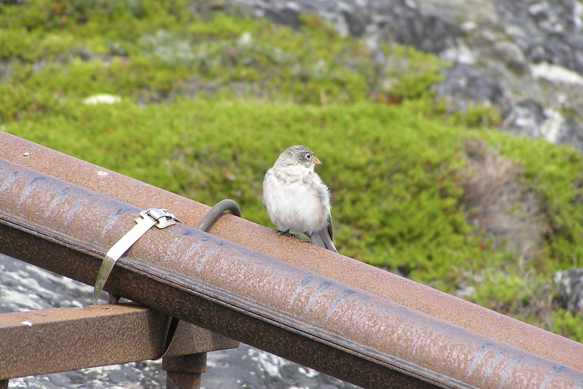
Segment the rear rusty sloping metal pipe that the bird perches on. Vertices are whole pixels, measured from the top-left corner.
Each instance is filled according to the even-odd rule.
[[[145,209],[170,208],[187,225],[197,225],[210,207],[147,183],[78,160],[50,148],[0,132],[2,158],[82,188]],[[124,188],[124,190],[120,190]],[[244,211],[244,210],[243,210]],[[583,346],[559,335],[466,302],[347,257],[278,236],[242,218],[224,215],[209,230],[268,256],[325,275],[471,331],[583,370]]]

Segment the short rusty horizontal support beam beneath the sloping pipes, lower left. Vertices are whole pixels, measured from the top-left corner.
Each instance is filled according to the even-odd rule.
[[[168,324],[166,314],[122,304],[0,314],[0,380],[157,359]],[[191,325],[180,326],[177,339],[170,358],[238,346]]]

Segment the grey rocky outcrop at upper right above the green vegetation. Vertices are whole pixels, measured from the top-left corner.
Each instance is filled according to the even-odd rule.
[[[500,130],[583,149],[583,2],[577,0],[238,0],[298,28],[317,13],[343,35],[396,41],[452,63],[435,89],[451,111],[494,107]]]

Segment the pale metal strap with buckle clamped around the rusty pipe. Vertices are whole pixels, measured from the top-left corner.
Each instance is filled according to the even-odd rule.
[[[97,303],[97,299],[99,299],[99,295],[103,291],[107,277],[109,277],[115,262],[128,251],[129,247],[134,245],[153,226],[162,229],[176,224],[176,218],[173,214],[169,213],[168,210],[158,208],[148,208],[147,210],[141,211],[140,217],[136,218],[135,221],[138,224],[122,236],[115,245],[111,246],[111,249],[108,250],[101,263],[101,267],[97,273],[97,280],[95,281],[95,288],[93,289],[94,304]]]

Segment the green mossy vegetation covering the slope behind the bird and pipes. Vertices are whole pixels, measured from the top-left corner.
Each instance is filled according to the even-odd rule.
[[[2,130],[203,203],[232,198],[268,226],[263,175],[305,144],[324,162],[341,253],[583,341],[552,284],[583,266],[581,154],[487,129],[490,108],[446,114],[431,86],[447,64],[431,55],[386,45],[381,66],[302,20],[188,1],[0,5]],[[98,93],[121,102],[83,102]],[[472,222],[468,142],[517,167],[545,228],[535,253]]]

